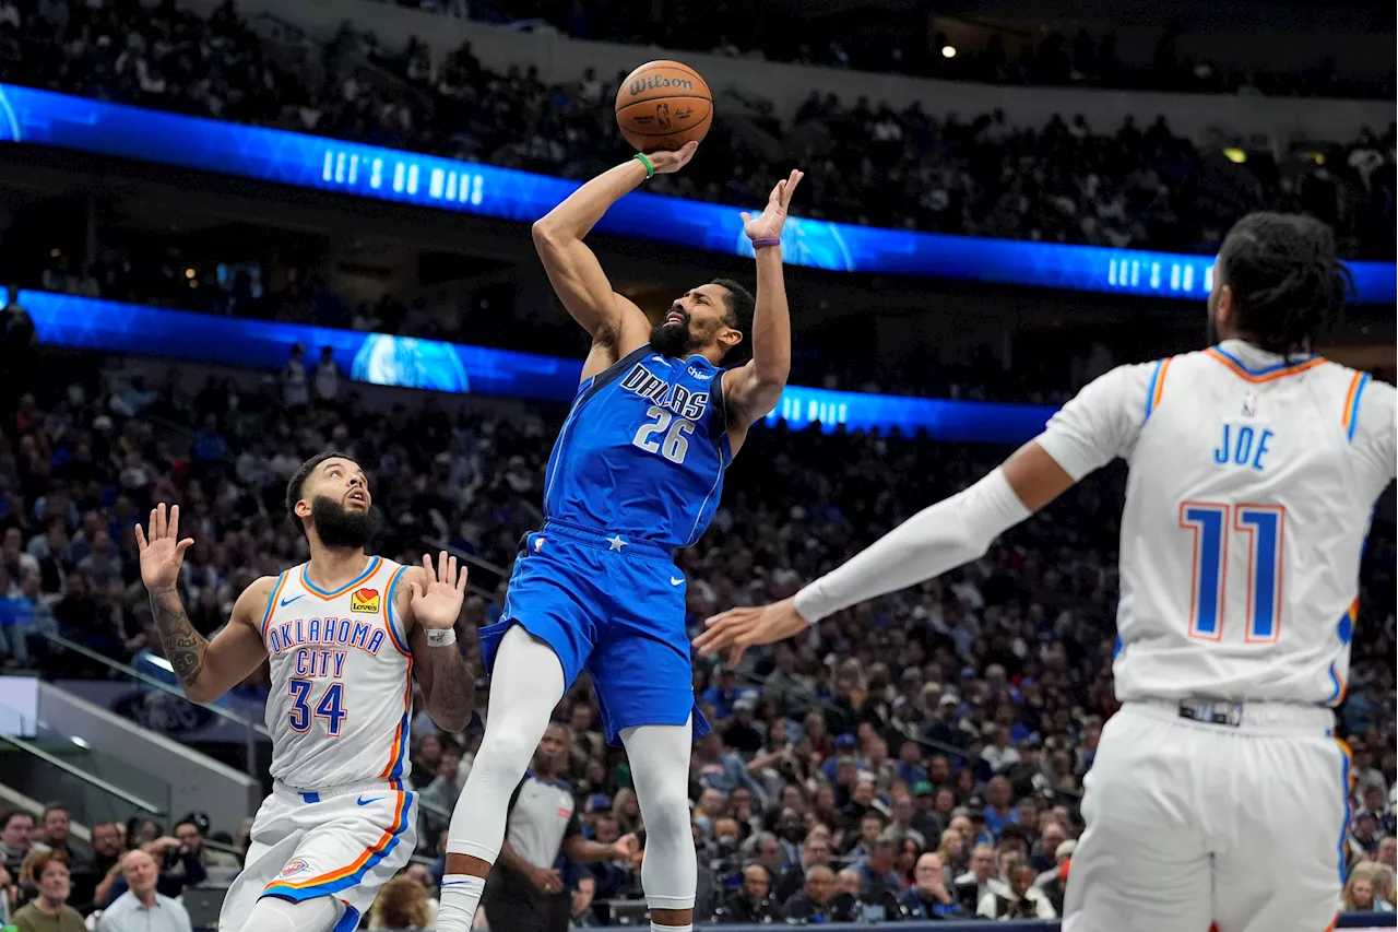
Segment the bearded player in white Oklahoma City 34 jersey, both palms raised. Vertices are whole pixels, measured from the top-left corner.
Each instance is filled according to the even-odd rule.
[[[408,771],[412,672],[432,719],[466,728],[475,694],[456,647],[466,568],[443,551],[433,571],[365,553],[377,530],[363,470],[344,453],[306,460],[287,511],[310,561],[238,596],[212,641],[189,621],[178,584],[179,505],[136,528],[141,581],[185,694],[212,702],[271,663],[267,730],[273,793],[218,918],[226,932],[352,929],[417,844]]]

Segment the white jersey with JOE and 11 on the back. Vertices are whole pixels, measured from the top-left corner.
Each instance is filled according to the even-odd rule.
[[[1130,465],[1117,697],[1338,704],[1398,392],[1239,340],[1086,386],[1039,438],[1081,479]]]

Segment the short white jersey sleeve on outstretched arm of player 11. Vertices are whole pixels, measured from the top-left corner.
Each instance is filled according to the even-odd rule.
[[[1039,445],[1074,481],[1128,455],[1151,414],[1153,388],[1163,389],[1166,362],[1118,365],[1092,381],[1048,418]]]

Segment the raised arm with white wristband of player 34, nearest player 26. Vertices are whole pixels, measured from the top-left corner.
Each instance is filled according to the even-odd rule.
[[[475,707],[475,676],[456,644],[456,621],[466,599],[466,567],[457,572],[456,557],[443,550],[436,570],[422,556],[422,567],[411,567],[394,592],[404,617],[411,620],[408,647],[422,683],[428,715],[447,732],[464,730]],[[401,612],[401,609],[400,609]]]

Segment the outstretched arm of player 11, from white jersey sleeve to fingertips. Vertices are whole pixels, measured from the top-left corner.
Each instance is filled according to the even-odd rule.
[[[986,556],[991,542],[1118,456],[1139,430],[1139,369],[1120,367],[1085,388],[1048,427],[974,486],[924,508],[790,599],[730,609],[695,638],[700,654],[742,651],[802,631],[858,602],[906,589]]]

